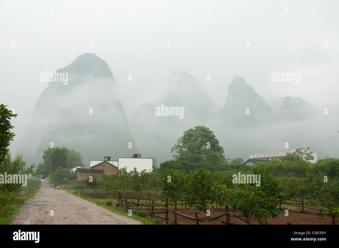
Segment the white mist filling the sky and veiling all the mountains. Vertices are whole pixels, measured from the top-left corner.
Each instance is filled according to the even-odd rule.
[[[2,3],[12,155],[37,165],[53,142],[87,167],[133,153],[161,163],[185,130],[204,125],[230,158],[306,147],[337,158],[339,4],[320,3]],[[41,82],[45,71],[67,73],[67,84]],[[274,82],[278,71],[299,81]],[[162,105],[182,107],[183,118],[156,116]]]

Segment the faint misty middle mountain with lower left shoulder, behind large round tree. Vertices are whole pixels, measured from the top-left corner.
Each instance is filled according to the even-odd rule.
[[[178,115],[166,115],[162,108],[180,108]],[[156,109],[160,109],[157,115]],[[157,102],[144,103],[134,114],[131,130],[141,153],[161,160],[171,159],[171,148],[183,132],[204,125],[213,118],[215,105],[198,81],[186,72],[169,75],[163,97]],[[181,114],[181,117],[179,116]],[[180,118],[179,118],[180,117]]]

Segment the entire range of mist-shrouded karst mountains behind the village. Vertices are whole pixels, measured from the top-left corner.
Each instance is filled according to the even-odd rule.
[[[173,158],[171,148],[183,132],[196,126],[210,128],[232,158],[285,151],[285,142],[290,149],[309,146],[321,152],[317,144],[333,139],[325,131],[318,141],[307,130],[294,131],[328,121],[305,100],[286,96],[274,100],[271,107],[240,76],[233,78],[224,106],[215,112],[212,98],[195,77],[172,72],[161,99],[142,104],[129,125],[113,74],[97,55],[82,54],[57,73],[67,73],[68,83],[48,83],[35,106],[29,123],[32,128],[18,150],[28,164],[42,162],[42,153],[51,142],[81,152],[86,166],[89,159],[115,159],[136,152],[162,162]],[[128,149],[129,142],[132,149]]]

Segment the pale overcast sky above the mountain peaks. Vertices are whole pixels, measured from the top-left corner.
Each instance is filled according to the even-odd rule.
[[[161,99],[174,70],[196,77],[218,108],[237,75],[269,104],[300,96],[330,108],[339,102],[338,9],[323,0],[1,1],[0,103],[25,124],[47,87],[39,74],[91,52],[111,68],[129,118]],[[300,85],[273,83],[278,71],[300,73]]]

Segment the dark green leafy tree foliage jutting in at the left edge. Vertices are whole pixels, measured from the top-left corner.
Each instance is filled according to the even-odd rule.
[[[11,110],[8,110],[7,105],[0,105],[0,165],[5,160],[6,154],[9,153],[8,146],[15,136],[10,130],[14,127],[11,124],[11,117],[16,117]]]

